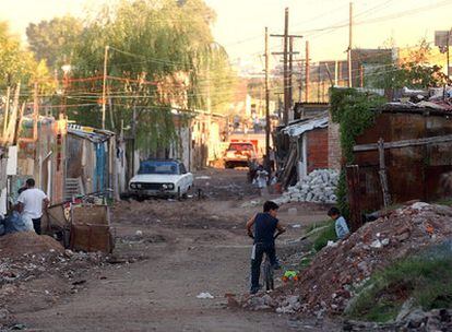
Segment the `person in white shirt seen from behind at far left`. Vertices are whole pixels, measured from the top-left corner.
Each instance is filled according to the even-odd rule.
[[[33,221],[36,234],[40,235],[40,218],[43,211],[47,210],[49,200],[43,190],[35,188],[35,180],[26,180],[26,190],[17,198],[19,212]]]

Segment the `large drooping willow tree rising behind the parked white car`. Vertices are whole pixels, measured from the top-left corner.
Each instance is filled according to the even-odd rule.
[[[70,75],[94,79],[67,86],[68,103],[92,104],[68,108],[70,117],[100,126],[98,78],[108,45],[107,128],[118,132],[122,123],[133,127],[135,110],[139,142],[168,146],[176,137],[174,109],[185,116],[209,105],[221,110],[231,94],[234,73],[226,52],[214,43],[214,20],[202,0],[123,0],[105,7],[84,22],[71,45]]]

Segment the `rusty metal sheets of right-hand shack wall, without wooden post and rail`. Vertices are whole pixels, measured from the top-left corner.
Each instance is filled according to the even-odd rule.
[[[381,114],[372,128],[357,139],[357,144],[413,140],[452,133],[452,120],[443,116],[411,112]],[[394,203],[414,199],[425,201],[444,198],[441,176],[452,171],[450,142],[427,146],[408,146],[385,151],[389,190]],[[378,177],[378,152],[355,153],[360,167],[361,208],[378,210],[383,205]]]

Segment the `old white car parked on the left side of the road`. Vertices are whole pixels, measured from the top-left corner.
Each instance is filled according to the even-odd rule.
[[[132,197],[186,198],[193,187],[193,175],[183,163],[174,159],[151,159],[140,163],[140,169],[129,182]]]

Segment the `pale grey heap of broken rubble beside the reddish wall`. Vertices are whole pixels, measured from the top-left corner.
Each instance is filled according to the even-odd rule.
[[[274,200],[276,204],[289,202],[313,202],[334,204],[337,201],[335,191],[338,182],[338,173],[334,169],[316,169],[302,178],[294,187],[289,187],[281,198]]]

